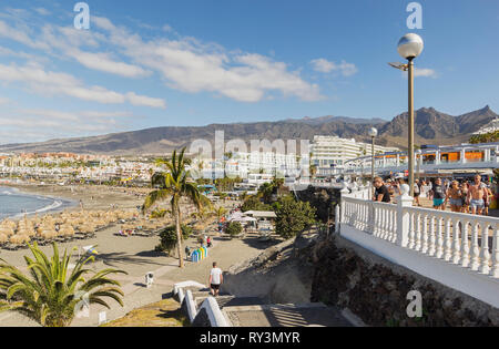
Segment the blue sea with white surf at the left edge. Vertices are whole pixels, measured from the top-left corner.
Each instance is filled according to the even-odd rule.
[[[24,214],[33,215],[62,211],[72,205],[74,203],[71,201],[26,194],[17,188],[0,186],[0,219],[7,217],[19,218]]]

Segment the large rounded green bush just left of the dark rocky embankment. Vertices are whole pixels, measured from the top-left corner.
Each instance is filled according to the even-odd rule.
[[[315,208],[291,195],[282,197],[277,206],[275,232],[284,238],[298,236],[316,220]]]

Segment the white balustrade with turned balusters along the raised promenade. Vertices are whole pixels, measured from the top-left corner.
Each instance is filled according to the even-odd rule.
[[[342,191],[342,207],[336,209],[339,234],[346,224],[421,257],[499,278],[498,218],[413,207],[409,196],[398,197],[397,205],[373,202],[359,194],[364,191]]]

